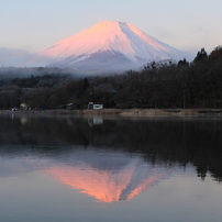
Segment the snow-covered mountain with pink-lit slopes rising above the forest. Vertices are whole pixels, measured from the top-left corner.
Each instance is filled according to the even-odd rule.
[[[127,69],[185,54],[122,22],[101,22],[37,53],[49,66],[76,69]]]

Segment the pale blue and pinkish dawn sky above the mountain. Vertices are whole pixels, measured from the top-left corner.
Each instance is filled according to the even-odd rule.
[[[222,44],[221,0],[0,0],[0,47],[36,52],[103,21],[132,23],[178,49]]]

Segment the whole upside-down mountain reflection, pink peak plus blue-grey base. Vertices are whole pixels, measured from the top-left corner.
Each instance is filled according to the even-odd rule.
[[[68,156],[71,163],[67,164]],[[54,165],[45,173],[102,202],[133,199],[170,173],[169,167],[154,167],[140,156],[131,157],[120,152],[90,148],[68,156],[63,156],[65,165]]]

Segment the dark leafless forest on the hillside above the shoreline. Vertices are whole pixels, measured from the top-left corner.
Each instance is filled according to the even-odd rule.
[[[189,63],[149,63],[140,70],[77,77],[56,68],[0,68],[0,109],[57,109],[89,102],[104,108],[222,108],[222,46],[201,48]],[[24,75],[22,75],[24,71]],[[18,73],[18,75],[15,75]]]

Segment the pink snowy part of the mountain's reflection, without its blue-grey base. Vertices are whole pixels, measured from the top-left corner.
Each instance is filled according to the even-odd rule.
[[[45,173],[99,201],[114,202],[133,199],[146,188],[164,179],[169,170],[152,168],[140,158],[131,158],[124,167],[112,171],[98,170],[90,167],[88,163],[81,163],[79,166],[54,166]]]

